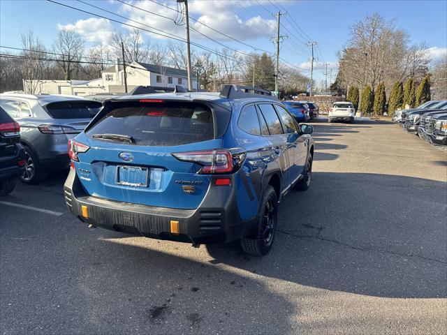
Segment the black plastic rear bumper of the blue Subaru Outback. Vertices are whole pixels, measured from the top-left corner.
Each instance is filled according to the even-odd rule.
[[[225,243],[247,235],[256,218],[242,221],[237,211],[235,189],[213,188],[198,209],[171,209],[117,202],[87,195],[73,169],[64,184],[68,209],[82,222],[129,234],[193,244]],[[88,217],[83,216],[87,207]],[[171,232],[178,221],[179,233]]]

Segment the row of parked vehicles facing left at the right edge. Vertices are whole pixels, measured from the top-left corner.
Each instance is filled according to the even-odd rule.
[[[410,110],[398,110],[393,122],[431,144],[447,146],[447,101],[427,101]]]

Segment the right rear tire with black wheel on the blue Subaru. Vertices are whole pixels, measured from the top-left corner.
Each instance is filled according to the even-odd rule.
[[[267,255],[272,248],[274,233],[278,221],[278,198],[272,186],[268,186],[261,200],[257,218],[256,230],[252,236],[241,239],[244,253],[255,256]]]

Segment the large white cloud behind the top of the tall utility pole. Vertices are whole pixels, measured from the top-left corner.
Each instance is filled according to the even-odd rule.
[[[251,15],[247,20],[243,20],[236,13],[230,10],[230,8],[235,8],[235,1],[225,1],[224,3],[217,1],[199,1],[193,0],[189,2],[189,16],[196,17],[198,22],[193,20],[189,20],[189,24],[193,29],[200,31],[200,33],[210,36],[214,40],[227,41],[231,40],[226,36],[223,36],[212,29],[205,27],[203,24],[212,27],[217,31],[221,31],[223,34],[231,36],[237,40],[250,40],[252,38],[257,37],[265,37],[272,35],[275,29],[275,21],[272,18],[271,20],[265,19],[260,16]],[[173,1],[162,1],[162,3],[166,6],[169,6],[173,9],[180,9],[181,6],[173,6]],[[247,7],[251,6],[252,1],[240,1],[242,6]],[[132,24],[137,27],[141,27],[143,29],[150,29],[147,26],[154,27],[156,29],[161,29],[163,31],[168,32],[169,34],[173,34],[178,38],[184,38],[184,26],[175,24],[174,20],[179,22],[182,18],[180,13],[177,13],[175,10],[170,10],[169,8],[159,6],[152,1],[133,1],[133,6],[142,8],[143,10],[147,10],[152,13],[156,13],[159,15],[163,15],[164,17],[156,16],[138,8],[133,8],[131,6],[127,6],[126,4],[122,4],[120,11],[123,15],[126,15],[131,20],[136,22],[141,22],[139,25],[133,21],[129,21],[126,23]],[[237,9],[235,9],[237,12]],[[244,13],[245,17],[248,17],[247,13]],[[168,18],[166,18],[168,17]],[[202,22],[203,24],[200,24]],[[145,26],[144,24],[147,24]],[[162,33],[163,34],[163,33]],[[191,29],[191,38],[194,40],[205,40],[205,36],[198,34],[196,31]],[[151,34],[154,38],[163,38],[162,36]]]

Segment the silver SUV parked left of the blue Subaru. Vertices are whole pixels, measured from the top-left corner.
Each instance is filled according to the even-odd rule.
[[[27,154],[21,179],[34,184],[47,172],[68,168],[68,140],[84,130],[101,103],[79,96],[0,94],[0,106],[20,124]]]

